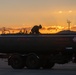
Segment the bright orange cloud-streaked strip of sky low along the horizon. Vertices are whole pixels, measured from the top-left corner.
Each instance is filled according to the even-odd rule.
[[[30,31],[31,31],[31,26],[27,26],[27,27],[24,27],[24,28],[6,28],[5,29],[5,33],[19,33],[21,30],[25,32],[27,31],[27,33],[29,34]],[[50,34],[50,33],[57,33],[59,31],[62,31],[62,30],[67,30],[68,27],[64,27],[64,26],[43,26],[42,29],[40,29],[40,32],[42,34]],[[70,29],[72,31],[76,31],[76,26],[73,26],[73,27],[70,27]],[[2,31],[0,30],[0,34],[2,33]]]

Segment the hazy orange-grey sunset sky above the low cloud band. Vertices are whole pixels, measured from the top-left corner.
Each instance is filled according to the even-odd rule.
[[[76,26],[76,0],[0,0],[0,28]]]

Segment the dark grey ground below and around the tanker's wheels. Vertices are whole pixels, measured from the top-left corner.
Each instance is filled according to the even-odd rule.
[[[7,62],[0,59],[0,75],[76,75],[76,64],[68,63],[64,65],[56,64],[51,70],[14,70],[7,65]]]

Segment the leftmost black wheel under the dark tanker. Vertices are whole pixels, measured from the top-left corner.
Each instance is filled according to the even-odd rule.
[[[8,59],[8,63],[11,65],[13,69],[22,69],[24,68],[24,62],[20,55],[12,55]]]

